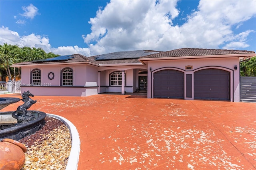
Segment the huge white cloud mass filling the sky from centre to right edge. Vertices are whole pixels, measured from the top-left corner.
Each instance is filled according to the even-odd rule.
[[[200,1],[181,26],[173,19],[177,1],[111,1],[90,19],[92,32],[83,35],[91,53],[130,49],[170,50],[182,47],[219,48],[237,42],[243,48],[250,30],[235,35],[232,26],[255,17],[256,1]],[[246,34],[244,34],[246,33]],[[242,35],[241,35],[242,34]]]

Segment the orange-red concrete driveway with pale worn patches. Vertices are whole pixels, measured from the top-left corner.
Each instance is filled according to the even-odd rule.
[[[31,110],[65,117],[78,129],[79,170],[256,167],[255,103],[130,95],[33,99]]]

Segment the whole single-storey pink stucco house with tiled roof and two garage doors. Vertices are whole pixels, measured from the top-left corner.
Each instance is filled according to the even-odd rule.
[[[148,98],[240,101],[239,62],[254,51],[182,48],[59,56],[14,64],[34,95],[147,93]]]

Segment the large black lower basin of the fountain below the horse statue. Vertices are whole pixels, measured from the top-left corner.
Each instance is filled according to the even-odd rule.
[[[32,113],[32,115],[35,116],[35,119],[33,121],[29,121],[25,123],[18,123],[14,127],[0,130],[0,140],[4,138],[20,140],[25,136],[29,136],[30,134],[35,133],[36,131],[40,130],[44,126],[45,124],[44,118],[46,117],[46,113],[40,112],[40,111],[28,111],[28,112]],[[10,117],[12,113],[13,111],[1,112],[0,120],[8,119],[8,117]],[[4,123],[4,122],[1,121],[1,123]]]

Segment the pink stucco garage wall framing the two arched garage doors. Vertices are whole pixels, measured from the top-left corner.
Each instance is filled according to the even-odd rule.
[[[192,65],[192,69],[185,69],[187,65]],[[238,69],[234,70],[237,65]],[[150,72],[151,67],[151,72]],[[148,61],[148,98],[153,97],[153,76],[154,72],[162,69],[176,69],[186,74],[192,74],[192,96],[194,93],[194,72],[200,69],[217,68],[230,72],[230,101],[240,101],[239,90],[239,59],[233,58],[210,58],[210,59],[175,59],[175,60],[161,60],[161,61]],[[186,81],[186,79],[184,79]],[[184,89],[186,89],[186,82],[184,82]],[[186,93],[186,91],[185,91]],[[186,94],[185,94],[186,96]],[[186,99],[186,97],[185,97]],[[189,98],[189,99],[193,99]]]

